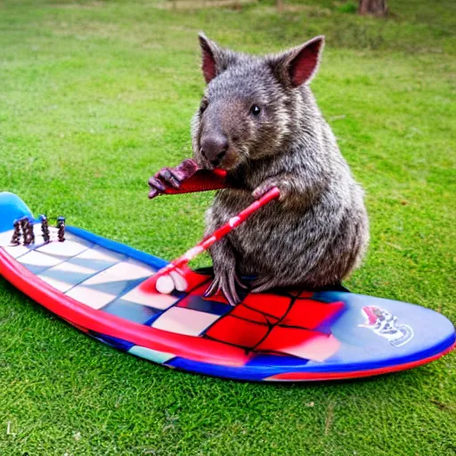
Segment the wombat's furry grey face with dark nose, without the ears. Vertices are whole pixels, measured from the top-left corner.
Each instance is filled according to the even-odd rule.
[[[203,167],[232,169],[272,153],[287,131],[287,96],[264,63],[237,64],[208,85],[194,118]]]

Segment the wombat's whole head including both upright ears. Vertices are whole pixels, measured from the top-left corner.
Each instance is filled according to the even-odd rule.
[[[289,69],[298,49],[259,58],[222,50],[204,36],[199,40],[208,82],[192,121],[193,155],[199,166],[232,170],[279,153],[294,118],[297,86],[314,73],[322,40],[311,71],[295,69],[301,74]]]

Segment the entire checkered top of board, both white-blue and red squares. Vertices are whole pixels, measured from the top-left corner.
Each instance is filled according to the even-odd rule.
[[[51,234],[56,238],[57,230]],[[9,246],[12,232],[0,246],[32,273],[67,296],[126,320],[158,330],[208,338],[248,354],[291,355],[322,361],[338,350],[338,340],[323,323],[337,316],[342,303],[322,303],[312,293],[249,294],[232,307],[217,295],[202,297],[208,280],[190,294],[144,292],[156,271],[132,258],[67,233],[64,242],[45,244],[35,225],[36,243]]]

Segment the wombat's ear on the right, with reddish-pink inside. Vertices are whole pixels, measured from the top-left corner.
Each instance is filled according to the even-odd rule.
[[[318,69],[323,45],[324,37],[314,37],[304,45],[273,56],[270,64],[274,74],[294,87],[309,83]]]

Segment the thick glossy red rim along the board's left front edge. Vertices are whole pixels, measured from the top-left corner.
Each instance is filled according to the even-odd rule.
[[[249,356],[240,348],[128,322],[116,315],[79,303],[30,273],[3,248],[0,248],[0,273],[28,297],[79,329],[93,330],[137,346],[175,354],[192,361],[226,366],[243,366],[248,362]]]

